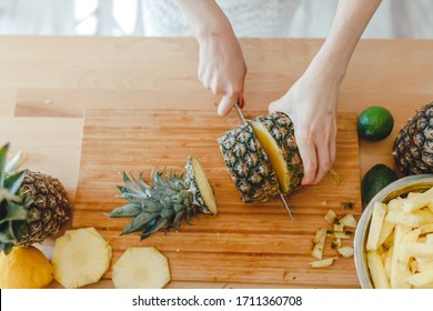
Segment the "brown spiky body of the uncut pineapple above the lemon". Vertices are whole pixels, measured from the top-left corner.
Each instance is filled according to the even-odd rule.
[[[58,234],[71,214],[71,203],[62,183],[51,175],[26,170],[20,191],[31,198],[30,222],[18,245],[41,243],[47,237]]]

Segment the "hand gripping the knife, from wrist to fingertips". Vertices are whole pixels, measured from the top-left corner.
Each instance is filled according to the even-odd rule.
[[[199,43],[199,79],[208,90],[222,96],[218,114],[228,114],[238,99],[242,108],[246,66],[231,28],[201,36]]]

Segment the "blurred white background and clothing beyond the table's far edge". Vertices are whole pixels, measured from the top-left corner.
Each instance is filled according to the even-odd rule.
[[[324,38],[338,0],[219,0],[238,37]],[[0,0],[0,34],[190,37],[175,0]],[[432,0],[383,0],[363,38],[433,39]]]

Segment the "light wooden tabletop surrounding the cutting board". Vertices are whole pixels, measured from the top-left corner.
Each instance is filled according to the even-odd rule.
[[[245,109],[266,110],[302,74],[322,42],[241,40],[249,69]],[[395,119],[384,141],[361,140],[361,175],[379,162],[393,165],[391,147],[396,133],[416,109],[433,100],[432,56],[431,40],[360,42],[341,89],[339,110],[360,113],[366,107],[383,106]],[[198,81],[197,66],[194,39],[1,37],[0,143],[11,142],[10,156],[23,150],[28,168],[58,177],[73,199],[84,109],[213,109],[218,98]],[[95,287],[111,287],[111,282]],[[245,284],[174,282],[170,287]]]

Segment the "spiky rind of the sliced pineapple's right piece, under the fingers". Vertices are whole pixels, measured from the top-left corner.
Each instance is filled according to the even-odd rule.
[[[276,111],[266,116],[254,118],[272,136],[286,162],[289,171],[289,194],[301,188],[301,180],[304,175],[302,159],[298,150],[294,137],[294,127],[292,120],[283,112]]]

